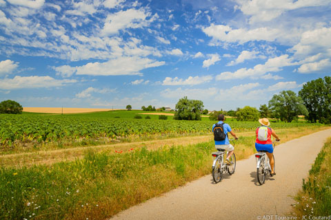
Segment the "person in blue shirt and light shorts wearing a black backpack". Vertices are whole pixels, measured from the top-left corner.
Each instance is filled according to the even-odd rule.
[[[225,151],[228,151],[228,157],[226,157],[225,159],[225,164],[231,165],[231,162],[229,160],[229,158],[232,156],[232,154],[234,153],[234,147],[232,146],[232,144],[230,144],[229,142],[229,138],[228,138],[228,132],[230,132],[230,134],[236,139],[238,140],[237,135],[232,131],[231,127],[229,124],[225,124],[224,123],[224,115],[223,114],[219,114],[217,116],[217,119],[219,120],[219,122],[217,122],[217,124],[223,124],[223,129],[224,129],[224,133],[225,133],[225,140],[221,140],[221,141],[217,141],[215,140],[215,148],[217,149],[224,149]],[[212,131],[214,132],[214,127],[216,126],[216,124],[212,125]]]

